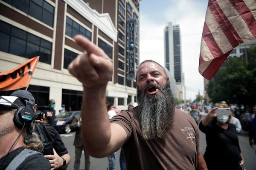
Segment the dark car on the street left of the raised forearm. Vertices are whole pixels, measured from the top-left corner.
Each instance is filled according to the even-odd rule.
[[[70,123],[76,115],[80,115],[81,111],[67,111],[58,114],[54,119],[54,127],[58,132],[70,133]]]

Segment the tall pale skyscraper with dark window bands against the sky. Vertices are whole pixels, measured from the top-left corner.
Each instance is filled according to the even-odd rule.
[[[164,54],[165,67],[176,81],[176,98],[185,100],[186,90],[182,72],[180,26],[173,25],[172,22],[167,23],[164,28]]]

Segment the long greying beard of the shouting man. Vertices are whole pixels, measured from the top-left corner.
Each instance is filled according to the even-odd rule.
[[[164,88],[158,86],[158,90],[155,95],[148,95],[145,90],[143,92],[137,90],[140,104],[139,119],[145,139],[163,138],[172,130],[175,111],[172,90],[169,83]]]

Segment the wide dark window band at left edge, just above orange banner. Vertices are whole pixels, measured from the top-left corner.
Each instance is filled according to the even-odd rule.
[[[0,21],[0,51],[51,64],[52,42]]]

